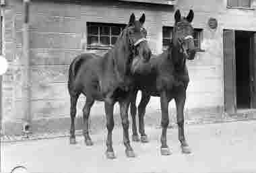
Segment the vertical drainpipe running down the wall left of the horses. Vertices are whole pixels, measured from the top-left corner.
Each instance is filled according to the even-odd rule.
[[[32,121],[30,108],[30,47],[29,47],[29,5],[30,0],[23,1],[24,6],[24,24],[23,24],[23,42],[22,42],[22,64],[23,64],[23,80],[22,80],[22,109],[23,109],[23,133],[28,137],[30,133],[30,124]]]

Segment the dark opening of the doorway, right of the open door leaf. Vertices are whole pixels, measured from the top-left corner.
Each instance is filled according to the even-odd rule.
[[[236,107],[251,108],[251,38],[252,32],[235,32]]]

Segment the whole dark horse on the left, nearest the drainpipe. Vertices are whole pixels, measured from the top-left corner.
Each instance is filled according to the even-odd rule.
[[[113,108],[119,102],[120,114],[123,125],[123,142],[128,157],[135,157],[129,142],[128,108],[133,77],[131,69],[139,69],[133,59],[146,63],[151,57],[151,50],[146,41],[146,30],[142,27],[145,14],[139,20],[135,15],[130,16],[129,24],[123,29],[115,46],[100,57],[91,53],[78,55],[69,67],[68,90],[70,95],[70,143],[75,144],[75,114],[77,98],[80,94],[86,96],[83,108],[84,127],[83,134],[86,145],[93,145],[88,131],[88,118],[90,109],[95,100],[104,102],[106,113],[106,156],[115,158],[112,145],[112,131],[114,128]],[[141,63],[140,62],[140,63]],[[133,65],[134,64],[134,65]],[[132,67],[136,66],[136,67]],[[134,71],[136,72],[136,71]]]

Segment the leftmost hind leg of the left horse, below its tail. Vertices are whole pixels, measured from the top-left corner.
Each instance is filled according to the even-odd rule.
[[[70,117],[71,117],[71,127],[70,127],[70,144],[75,144],[75,114],[76,114],[76,104],[79,94],[70,94]]]

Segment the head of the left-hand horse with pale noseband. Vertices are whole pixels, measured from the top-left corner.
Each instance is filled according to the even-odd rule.
[[[132,61],[131,72],[143,73],[143,64],[148,63],[152,52],[146,40],[147,31],[143,28],[145,22],[145,14],[141,15],[139,20],[135,20],[135,15],[132,13],[129,24],[127,26],[129,40],[132,44]]]

